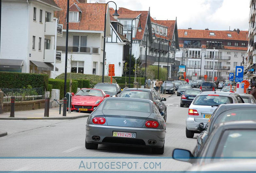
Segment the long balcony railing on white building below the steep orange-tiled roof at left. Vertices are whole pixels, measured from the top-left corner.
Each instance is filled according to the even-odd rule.
[[[66,46],[57,46],[57,50],[66,52]],[[68,52],[99,54],[99,48],[85,46],[68,46]]]

